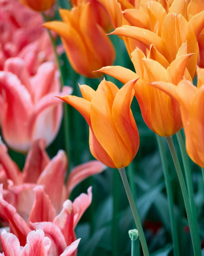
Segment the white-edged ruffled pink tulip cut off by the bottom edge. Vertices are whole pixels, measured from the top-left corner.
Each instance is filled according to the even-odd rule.
[[[45,236],[43,230],[38,229],[31,231],[27,235],[27,243],[24,247],[20,246],[18,238],[5,230],[1,232],[1,245],[4,253],[0,255],[16,255],[16,256],[48,256],[50,253],[51,240]],[[68,246],[60,256],[71,255],[76,248],[80,239]],[[58,256],[58,255],[57,255]]]

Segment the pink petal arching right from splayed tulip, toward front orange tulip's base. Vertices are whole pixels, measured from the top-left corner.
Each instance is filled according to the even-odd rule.
[[[94,174],[101,173],[105,169],[106,166],[97,160],[89,161],[88,163],[80,164],[73,168],[67,180],[68,194],[70,195],[72,190],[76,185],[82,182],[82,180],[85,180]]]

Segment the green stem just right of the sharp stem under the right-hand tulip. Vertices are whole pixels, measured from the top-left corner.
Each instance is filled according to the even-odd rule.
[[[197,240],[199,242],[200,238],[199,238],[199,231],[198,231],[197,212],[196,212],[195,201],[194,201],[192,175],[191,175],[191,170],[190,170],[190,166],[189,166],[189,158],[188,158],[187,151],[185,149],[185,144],[183,141],[181,131],[177,132],[177,140],[179,143],[179,148],[180,148],[180,152],[181,152],[181,156],[182,156],[182,160],[183,160],[183,166],[184,166],[184,171],[185,171],[185,178],[186,178],[186,183],[187,183],[190,207],[191,207],[191,211],[193,214],[193,220],[194,220],[196,233],[198,236]]]

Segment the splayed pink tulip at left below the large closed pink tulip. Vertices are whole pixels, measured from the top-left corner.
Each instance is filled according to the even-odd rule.
[[[39,139],[32,143],[25,166],[20,172],[18,166],[0,143],[0,183],[4,199],[12,204],[25,219],[29,218],[34,202],[33,188],[42,185],[58,214],[63,202],[70,196],[77,184],[87,177],[103,172],[99,161],[89,161],[72,169],[64,184],[68,159],[63,150],[50,160],[45,150],[46,141]]]

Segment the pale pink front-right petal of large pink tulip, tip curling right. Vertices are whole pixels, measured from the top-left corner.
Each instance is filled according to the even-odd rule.
[[[55,139],[62,120],[62,101],[55,96],[71,94],[72,88],[63,87],[61,93],[52,92],[35,105],[29,123],[29,135],[33,139],[45,138],[47,146]]]

